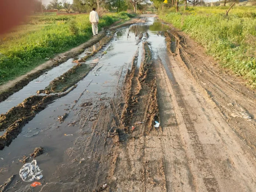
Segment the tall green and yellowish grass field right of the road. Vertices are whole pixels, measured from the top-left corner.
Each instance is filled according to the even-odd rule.
[[[256,86],[256,8],[234,7],[228,16],[228,7],[189,7],[180,13],[168,10],[160,18],[182,29],[207,53],[230,68],[236,75]]]

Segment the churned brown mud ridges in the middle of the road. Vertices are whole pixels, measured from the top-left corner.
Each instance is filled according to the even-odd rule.
[[[154,121],[159,121],[159,110],[152,53],[146,43],[143,43],[143,51],[143,60],[140,67],[138,68],[136,65],[138,61],[134,62],[135,60],[133,60],[131,74],[128,74],[125,80],[128,81],[126,86],[129,89],[126,93],[126,103],[121,120],[123,125],[128,128],[131,126],[131,123],[135,123],[135,120],[133,120],[135,115],[135,119],[141,119],[141,121],[143,120],[146,123],[145,134],[148,134],[153,130]],[[149,71],[150,75],[148,75]],[[138,116],[141,113],[144,115]]]

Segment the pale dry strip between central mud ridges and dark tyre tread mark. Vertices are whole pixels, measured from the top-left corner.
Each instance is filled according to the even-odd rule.
[[[156,60],[157,89],[159,92],[159,113],[163,131],[160,132],[161,150],[166,170],[167,191],[196,191],[195,178],[188,157],[182,145],[178,122],[175,117],[173,100],[170,94],[170,82],[160,58]]]

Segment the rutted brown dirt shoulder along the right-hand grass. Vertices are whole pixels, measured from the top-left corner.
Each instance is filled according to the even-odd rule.
[[[253,118],[253,114],[256,114],[255,108],[253,108],[253,106],[256,106],[255,95],[239,83],[233,85],[234,81],[232,81],[231,77],[227,79],[227,75],[220,75],[212,70],[209,67],[211,65],[208,66],[206,64],[208,60],[204,61],[200,54],[187,45],[186,38],[182,39],[177,34],[175,38],[177,39],[178,60],[188,67],[185,69],[187,73],[191,73],[192,77],[196,79],[199,88],[209,96],[240,142],[249,146],[249,149],[248,147],[243,147],[243,150],[252,154],[254,159],[256,155],[256,123],[254,119],[250,120],[249,118]],[[201,65],[198,66],[198,63]]]

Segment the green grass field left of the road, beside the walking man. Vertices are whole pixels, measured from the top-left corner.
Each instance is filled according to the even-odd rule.
[[[99,30],[134,15],[106,14]],[[0,84],[25,74],[36,66],[86,42],[92,37],[88,14],[31,16],[28,21],[0,38]]]

